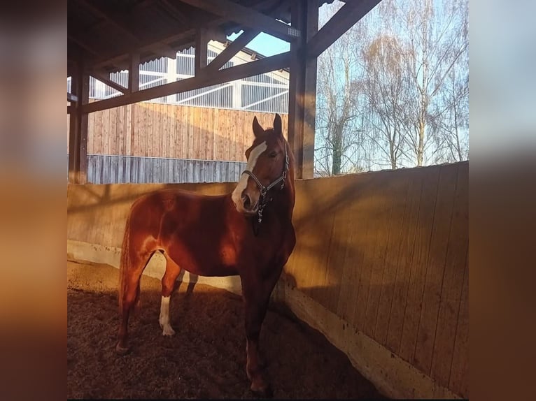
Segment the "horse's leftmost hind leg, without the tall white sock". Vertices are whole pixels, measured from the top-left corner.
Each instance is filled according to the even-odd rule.
[[[139,282],[141,274],[150,260],[150,257],[153,255],[153,252],[148,252],[145,254],[137,254],[137,252],[132,253],[134,255],[129,255],[129,265],[124,267],[127,269],[125,272],[125,289],[122,292],[122,308],[118,333],[118,344],[115,346],[115,350],[120,354],[125,354],[129,350],[127,345],[129,315],[130,312],[132,312],[132,309],[134,309],[134,305],[139,298]]]

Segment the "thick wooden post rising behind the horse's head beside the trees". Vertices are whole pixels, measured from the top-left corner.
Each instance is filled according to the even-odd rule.
[[[314,173],[314,131],[316,117],[316,57],[307,58],[307,41],[318,32],[318,0],[292,2],[292,27],[302,31],[299,41],[290,43],[288,139],[296,161],[296,178]]]

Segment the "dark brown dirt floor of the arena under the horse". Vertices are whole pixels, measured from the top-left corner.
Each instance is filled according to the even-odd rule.
[[[160,280],[142,277],[132,351],[118,356],[117,285],[109,265],[67,262],[67,398],[253,397],[239,296],[181,284],[170,307],[176,335],[164,337]],[[274,398],[382,398],[344,353],[279,307],[267,313],[260,341]]]

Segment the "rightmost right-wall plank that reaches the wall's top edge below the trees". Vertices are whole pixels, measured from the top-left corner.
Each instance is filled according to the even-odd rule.
[[[443,279],[441,304],[432,354],[430,376],[441,386],[449,386],[454,340],[463,287],[467,249],[469,249],[469,175],[468,164],[458,168],[458,184],[449,234],[449,249]]]

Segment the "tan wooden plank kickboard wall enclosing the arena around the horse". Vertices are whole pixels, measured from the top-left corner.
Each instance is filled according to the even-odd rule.
[[[297,245],[283,273],[286,283],[339,316],[346,333],[365,333],[463,398],[468,168],[463,162],[298,180]],[[234,184],[69,186],[67,238],[117,249],[129,206],[162,187],[222,194]]]

